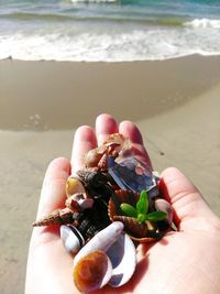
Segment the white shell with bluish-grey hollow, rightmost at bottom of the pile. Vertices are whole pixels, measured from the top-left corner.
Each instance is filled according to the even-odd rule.
[[[136,252],[131,238],[122,233],[107,251],[107,255],[112,263],[112,276],[108,284],[112,287],[125,284],[136,268]]]

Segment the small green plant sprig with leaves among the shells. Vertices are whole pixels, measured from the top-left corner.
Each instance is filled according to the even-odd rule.
[[[121,210],[128,216],[128,217],[134,217],[139,220],[140,224],[143,224],[144,221],[160,221],[164,220],[167,217],[167,213],[165,211],[153,211],[148,213],[148,196],[146,190],[142,190],[140,195],[140,199],[136,203],[136,207],[133,207],[130,204],[122,203],[120,205]]]

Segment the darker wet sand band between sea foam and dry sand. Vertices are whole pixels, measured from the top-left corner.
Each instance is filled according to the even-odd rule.
[[[219,57],[163,62],[0,62],[0,129],[73,129],[101,112],[140,120],[190,100],[220,76]]]

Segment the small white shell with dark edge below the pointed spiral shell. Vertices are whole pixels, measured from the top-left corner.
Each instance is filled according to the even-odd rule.
[[[61,239],[63,241],[64,248],[69,254],[76,254],[79,249],[85,244],[85,239],[72,225],[61,226]]]

